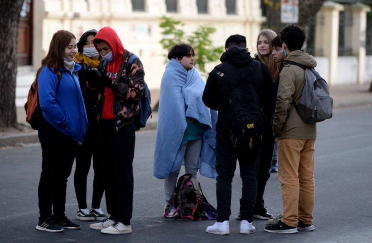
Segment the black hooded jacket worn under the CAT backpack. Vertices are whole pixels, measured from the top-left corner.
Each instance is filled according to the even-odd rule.
[[[246,48],[231,46],[225,51],[221,58],[221,64],[215,69],[223,72],[230,82],[239,81],[244,73],[247,72],[247,66],[252,62],[257,62],[253,72],[252,86],[255,89],[261,108],[266,117],[272,117],[275,109],[274,87],[269,69],[265,64],[253,60]],[[212,71],[213,72],[213,71]],[[218,111],[218,120],[216,124],[216,139],[218,142],[225,142],[225,124],[228,117],[228,96],[232,88],[226,81],[209,73],[207,83],[203,92],[204,104],[212,110]],[[271,130],[269,128],[269,130]]]

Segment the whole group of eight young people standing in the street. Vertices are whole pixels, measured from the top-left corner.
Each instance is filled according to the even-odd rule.
[[[253,70],[251,84],[270,123],[262,149],[244,155],[227,143],[226,105],[231,86],[214,71],[205,83],[193,65],[195,52],[190,45],[171,48],[160,86],[153,168],[153,175],[164,179],[165,205],[176,190],[182,165],[195,179],[198,171],[216,178],[217,222],[206,231],[229,234],[231,182],[239,160],[243,189],[236,218],[241,220],[240,233],[255,232],[253,218],[268,220],[272,225],[265,231],[269,232],[314,230],[316,126],[304,123],[296,113],[292,103],[301,98],[304,69],[288,63],[316,66],[315,59],[301,51],[305,38],[304,29],[296,25],[286,26],[280,36],[265,29],[257,38],[254,59],[244,36],[231,35],[226,40],[221,64],[214,71],[239,80],[248,67]],[[38,230],[80,228],[65,216],[67,178],[76,159],[76,218],[99,220],[90,228],[102,233],[132,232],[134,117],[140,113],[144,92],[144,68],[137,56],[128,63],[132,55],[110,27],[89,30],[79,42],[68,31],[53,35],[36,73],[43,115],[38,131],[42,147]],[[89,210],[86,184],[92,157]],[[276,217],[267,213],[263,200],[270,167],[282,183],[284,212]],[[100,209],[103,192],[109,217]],[[171,208],[167,215],[176,213]]]

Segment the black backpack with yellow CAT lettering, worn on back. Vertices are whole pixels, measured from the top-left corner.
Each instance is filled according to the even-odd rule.
[[[267,118],[252,86],[257,64],[258,61],[251,61],[238,82],[232,82],[220,71],[215,73],[232,88],[226,104],[228,118],[225,130],[227,141],[238,153],[258,151],[262,147],[266,131]]]

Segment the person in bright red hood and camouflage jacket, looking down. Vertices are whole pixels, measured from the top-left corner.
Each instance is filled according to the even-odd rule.
[[[133,53],[125,50],[118,34],[104,27],[94,37],[102,55],[97,70],[87,70],[88,85],[98,89],[102,173],[110,217],[90,228],[106,234],[131,233],[133,208],[134,117],[140,113],[144,70],[140,59],[127,65]]]

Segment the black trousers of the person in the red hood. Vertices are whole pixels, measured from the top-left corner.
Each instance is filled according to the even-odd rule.
[[[135,125],[118,131],[114,120],[101,121],[102,173],[110,218],[130,224],[133,209]]]

